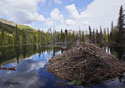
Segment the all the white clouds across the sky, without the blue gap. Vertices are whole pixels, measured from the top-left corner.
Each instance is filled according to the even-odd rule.
[[[68,17],[64,17],[67,14],[63,16],[61,11],[55,8],[50,12],[50,18],[44,18],[37,10],[38,4],[45,2],[46,0],[0,0],[0,17],[7,17],[21,24],[40,21],[45,22],[47,26],[58,26],[58,28],[64,26],[79,29],[80,26],[81,29],[88,29],[88,25],[96,28],[100,25],[110,27],[111,21],[116,24],[119,8],[121,5],[125,6],[124,0],[94,0],[87,8],[78,8],[75,4],[65,6],[69,13]],[[62,0],[54,0],[54,2],[61,4]]]

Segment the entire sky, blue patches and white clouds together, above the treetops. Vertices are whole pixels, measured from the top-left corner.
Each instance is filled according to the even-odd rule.
[[[34,28],[87,30],[117,23],[124,0],[1,0],[0,18]]]

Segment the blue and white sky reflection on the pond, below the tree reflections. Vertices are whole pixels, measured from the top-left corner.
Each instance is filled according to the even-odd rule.
[[[48,60],[60,53],[61,51],[45,51],[22,58],[19,63],[3,65],[15,67],[16,71],[0,70],[0,88],[125,88],[125,83],[120,83],[118,79],[92,86],[69,85],[67,81],[57,78],[45,68]]]

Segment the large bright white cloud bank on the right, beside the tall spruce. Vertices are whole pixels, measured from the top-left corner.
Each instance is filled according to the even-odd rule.
[[[65,8],[71,16],[69,18],[77,23],[77,27],[81,25],[87,29],[88,25],[95,28],[100,27],[100,25],[110,27],[111,21],[116,24],[121,5],[125,6],[124,0],[94,0],[84,11],[79,12],[75,4],[68,5]]]

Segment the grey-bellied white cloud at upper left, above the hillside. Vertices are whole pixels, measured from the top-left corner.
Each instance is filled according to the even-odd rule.
[[[44,21],[44,17],[37,12],[38,3],[44,2],[45,0],[1,0],[0,16],[21,24]]]

